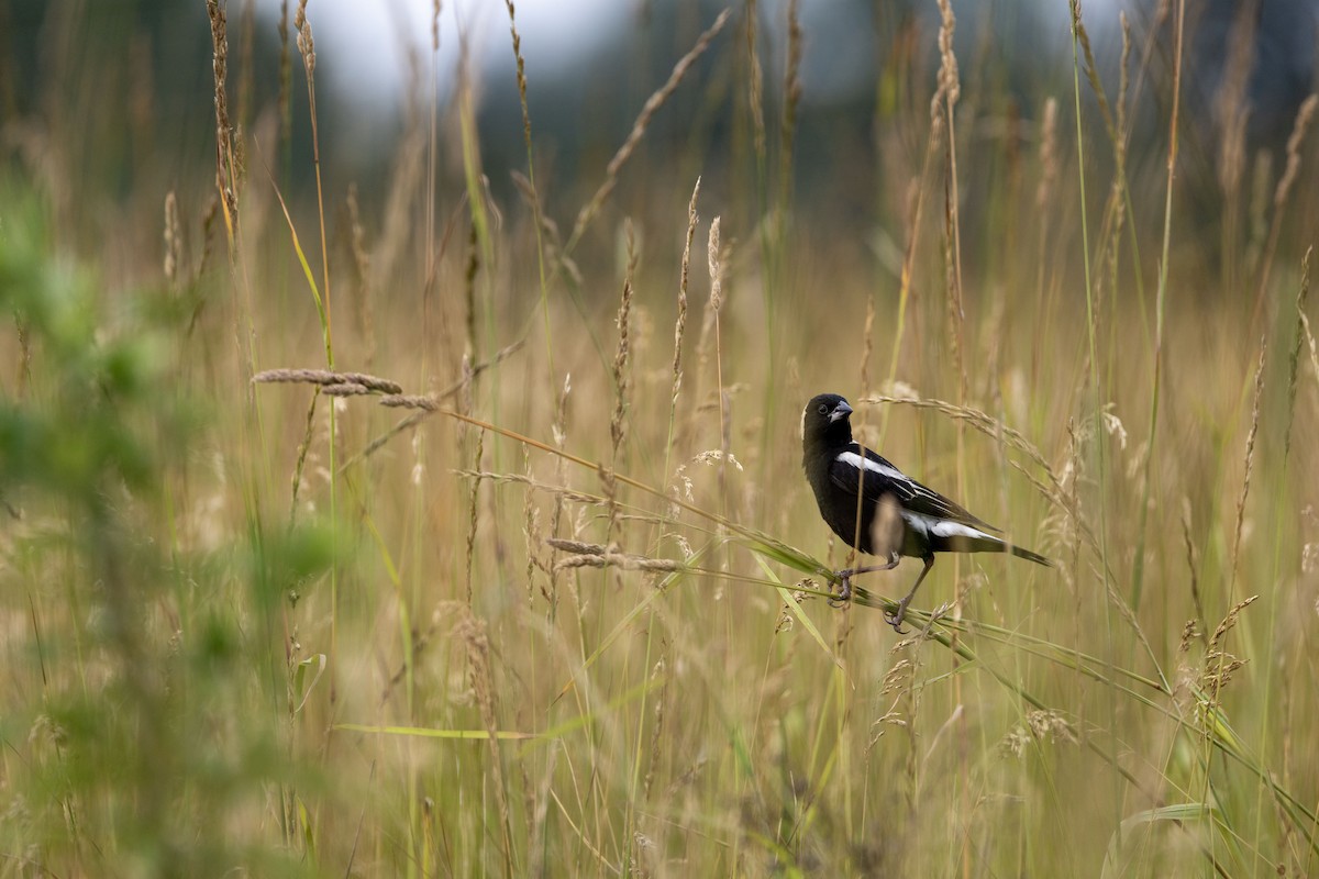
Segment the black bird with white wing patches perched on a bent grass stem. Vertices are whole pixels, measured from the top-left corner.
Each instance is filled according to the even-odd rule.
[[[902,617],[934,567],[935,552],[1010,552],[1053,567],[1045,556],[996,538],[991,531],[998,528],[853,443],[851,414],[852,407],[838,394],[811,398],[802,412],[802,469],[834,534],[861,552],[886,557],[888,564],[836,572],[842,592],[835,601],[852,597],[852,577],[859,573],[896,568],[901,556],[921,559],[925,569],[911,592],[898,602],[897,613],[885,614],[902,634]]]

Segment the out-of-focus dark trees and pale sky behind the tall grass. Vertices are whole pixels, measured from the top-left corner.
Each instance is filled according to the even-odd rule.
[[[278,100],[281,11],[289,16],[295,5],[245,0],[227,7],[235,43],[230,72],[241,83],[233,95],[236,121],[248,129]],[[318,109],[334,146],[323,150],[322,159],[335,179],[357,181],[364,202],[380,198],[380,183],[397,158],[409,113],[434,100],[441,119],[448,116],[446,108],[459,78],[467,75],[464,70],[474,80],[484,133],[483,165],[491,184],[506,195],[509,169],[525,166],[504,4],[458,0],[438,7],[438,50],[433,53],[434,5],[426,0],[319,0],[309,5],[322,58]],[[781,101],[785,0],[760,7],[764,24],[756,40],[765,54],[764,88],[768,100]],[[557,188],[571,190],[583,175],[591,177],[598,154],[620,142],[640,103],[720,8],[703,0],[517,4],[537,149],[550,163]],[[1022,0],[954,3],[952,8],[967,98],[988,100],[992,87],[996,101],[977,116],[972,140],[1029,138],[1020,127],[1038,121],[1031,115],[1043,98],[1064,94],[1070,84],[1067,4]],[[1116,79],[1121,50],[1119,12],[1136,28],[1148,28],[1158,11],[1155,3],[1086,4],[1095,55],[1107,80]],[[906,181],[886,178],[882,157],[874,161],[881,148],[878,133],[897,119],[905,101],[929,87],[938,53],[925,37],[938,28],[938,8],[907,0],[805,0],[799,14],[805,51],[793,162],[798,210],[826,206],[848,216],[890,219],[874,216],[874,195],[900,191]],[[1244,83],[1249,154],[1282,149],[1315,82],[1319,4],[1212,0],[1190,9],[1183,194],[1207,199],[1206,211],[1212,210],[1219,188],[1215,166],[1224,144],[1224,75],[1239,17],[1249,18],[1250,28]],[[123,202],[142,175],[152,175],[161,186],[189,179],[198,163],[207,161],[212,80],[203,0],[4,0],[0,33],[0,99],[11,158],[25,145],[32,152],[53,149],[47,162],[66,157],[71,170],[86,175],[91,186],[82,192],[84,198],[111,202]],[[906,37],[897,38],[901,34]],[[699,133],[702,159],[719,169],[707,177],[749,173],[728,166],[729,144],[745,124],[740,119],[745,108],[727,91],[736,75],[735,63],[728,55],[700,61],[702,79],[724,83],[724,94],[675,94],[670,111],[658,115],[646,140],[652,156],[682,154]],[[1159,148],[1153,141],[1167,112],[1161,104],[1166,96],[1148,90],[1138,98],[1138,121],[1130,132],[1133,162],[1158,162]],[[297,107],[305,94],[295,90],[290,100]],[[42,140],[57,132],[67,133],[63,142]],[[309,154],[307,127],[297,125],[280,136],[293,138],[293,156]],[[297,184],[306,183],[307,162],[281,167],[273,161],[276,144],[266,149],[272,171],[289,171]],[[36,162],[30,154],[28,161]]]

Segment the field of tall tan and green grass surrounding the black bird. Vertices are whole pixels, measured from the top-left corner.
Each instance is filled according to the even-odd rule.
[[[1254,149],[1178,3],[1025,90],[881,17],[822,153],[787,5],[572,174],[524,82],[487,181],[464,80],[331,179],[301,22],[231,113],[236,7],[218,170],[103,179],[109,75],[15,129],[0,876],[1319,872],[1314,99]],[[831,608],[822,391],[1058,567]]]

